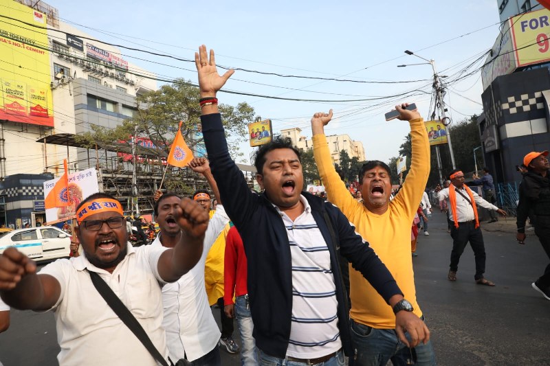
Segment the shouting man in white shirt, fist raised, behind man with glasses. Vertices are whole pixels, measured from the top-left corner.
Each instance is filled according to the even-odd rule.
[[[206,178],[214,196],[219,197],[218,188],[205,158],[195,158],[189,168]],[[159,196],[159,198],[157,198]],[[155,194],[155,217],[160,233],[151,247],[173,247],[181,235],[175,225],[173,208],[179,203],[176,194]],[[206,255],[214,241],[227,225],[229,218],[221,203],[210,219],[204,236],[201,259],[186,275],[177,282],[166,284],[162,288],[166,343],[170,359],[177,361],[176,366],[217,366],[221,364],[218,341],[221,336],[218,325],[210,310],[206,288],[204,286],[204,263]]]

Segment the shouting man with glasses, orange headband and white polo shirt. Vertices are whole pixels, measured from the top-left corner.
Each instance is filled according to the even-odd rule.
[[[173,249],[134,249],[126,240],[120,202],[109,194],[92,194],[76,209],[75,232],[85,255],[57,260],[36,273],[32,260],[8,248],[0,256],[0,295],[14,308],[54,310],[61,366],[157,365],[98,293],[91,272],[107,282],[166,360],[161,286],[197,264],[208,226],[208,213],[189,198],[174,211],[181,238]]]

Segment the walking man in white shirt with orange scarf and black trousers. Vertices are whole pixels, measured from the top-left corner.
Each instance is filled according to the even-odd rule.
[[[476,260],[476,275],[474,276],[476,284],[494,286],[494,282],[483,277],[483,273],[485,273],[485,244],[483,243],[483,233],[481,233],[479,227],[476,204],[497,211],[502,216],[506,216],[506,212],[488,203],[476,192],[470,190],[464,184],[464,174],[461,170],[455,169],[450,172],[449,179],[452,184],[439,192],[439,201],[447,200],[449,219],[453,223],[451,226],[452,251],[448,279],[449,281],[456,281],[456,271],[459,269],[460,257],[467,242],[470,242]]]

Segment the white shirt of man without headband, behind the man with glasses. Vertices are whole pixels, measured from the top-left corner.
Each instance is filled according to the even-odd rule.
[[[208,222],[199,262],[177,282],[166,284],[162,288],[162,326],[166,330],[168,352],[174,363],[184,356],[187,356],[188,361],[195,361],[218,345],[221,333],[208,304],[204,284],[204,263],[208,251],[228,222],[229,217],[225,214],[225,209],[218,205],[214,216]],[[159,233],[151,244],[152,247],[162,247],[160,237]]]

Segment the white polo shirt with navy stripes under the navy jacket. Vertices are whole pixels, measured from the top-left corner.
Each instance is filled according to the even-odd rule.
[[[338,300],[329,248],[304,196],[294,222],[276,207],[287,228],[292,256],[292,325],[287,356],[317,358],[340,350]]]

